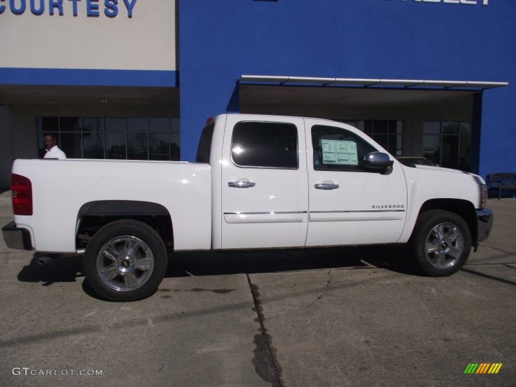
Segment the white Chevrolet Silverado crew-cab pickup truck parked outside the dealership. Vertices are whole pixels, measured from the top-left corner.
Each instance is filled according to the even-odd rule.
[[[480,176],[404,166],[357,128],[300,117],[217,116],[196,163],[17,159],[11,189],[7,246],[84,253],[115,301],[153,294],[167,250],[408,243],[449,276],[493,222]]]

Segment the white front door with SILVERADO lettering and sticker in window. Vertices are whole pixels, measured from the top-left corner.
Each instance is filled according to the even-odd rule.
[[[356,128],[305,120],[309,154],[307,246],[394,243],[403,231],[405,174],[365,168],[370,152],[382,151]],[[392,156],[391,156],[392,157]]]

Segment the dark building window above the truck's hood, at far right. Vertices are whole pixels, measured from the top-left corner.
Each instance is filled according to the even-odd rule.
[[[425,121],[423,156],[441,167],[470,171],[471,122]]]

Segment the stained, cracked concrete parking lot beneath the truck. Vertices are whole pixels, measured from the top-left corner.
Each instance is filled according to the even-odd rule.
[[[40,266],[2,240],[0,385],[514,386],[516,199],[488,206],[491,237],[451,277],[397,246],[181,253],[132,303],[96,298],[80,256]]]

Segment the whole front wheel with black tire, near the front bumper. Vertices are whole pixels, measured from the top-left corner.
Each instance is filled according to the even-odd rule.
[[[451,276],[470,255],[471,231],[455,213],[426,211],[417,218],[410,245],[423,273],[430,277]]]

